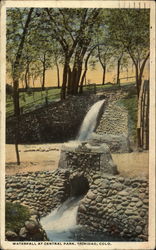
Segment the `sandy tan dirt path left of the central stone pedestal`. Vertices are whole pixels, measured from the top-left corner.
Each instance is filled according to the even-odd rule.
[[[19,145],[21,164],[16,164],[14,145],[6,145],[6,174],[53,170],[58,167],[61,144]]]

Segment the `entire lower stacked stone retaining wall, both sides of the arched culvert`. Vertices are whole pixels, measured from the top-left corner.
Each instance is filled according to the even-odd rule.
[[[89,191],[80,202],[79,224],[96,232],[148,240],[147,179],[76,168],[17,174],[6,178],[6,200],[35,208],[44,216],[71,195],[71,180],[80,176],[87,178]]]

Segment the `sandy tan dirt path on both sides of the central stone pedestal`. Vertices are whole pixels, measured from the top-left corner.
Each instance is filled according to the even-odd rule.
[[[21,165],[16,164],[14,145],[6,145],[6,174],[54,170],[58,167],[62,144],[19,145]],[[148,177],[148,153],[112,154],[123,176]]]

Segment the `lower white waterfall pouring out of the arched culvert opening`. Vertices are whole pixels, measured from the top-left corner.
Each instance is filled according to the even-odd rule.
[[[70,197],[59,208],[41,218],[40,223],[52,241],[66,241],[72,237],[72,231],[78,228],[76,216],[82,197]]]

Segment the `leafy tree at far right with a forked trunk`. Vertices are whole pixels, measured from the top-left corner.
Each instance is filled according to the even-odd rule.
[[[149,58],[149,10],[113,9],[108,11],[107,25],[110,40],[123,46],[134,65],[137,94],[142,83],[145,64]]]

